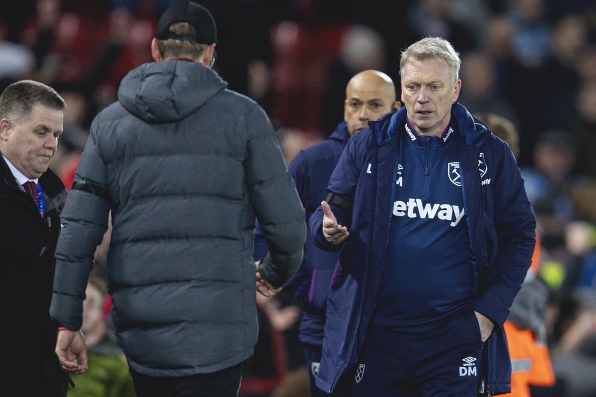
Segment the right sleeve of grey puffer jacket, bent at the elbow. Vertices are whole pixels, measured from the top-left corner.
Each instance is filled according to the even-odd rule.
[[[246,182],[270,253],[259,272],[271,285],[280,287],[302,263],[305,212],[269,118],[255,105],[248,122]]]

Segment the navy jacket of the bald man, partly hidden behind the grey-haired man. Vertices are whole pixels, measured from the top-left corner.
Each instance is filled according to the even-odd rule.
[[[350,134],[344,121],[338,124],[328,139],[303,149],[288,165],[294,178],[298,195],[306,212],[306,223],[327,196],[327,185],[346,147]],[[259,224],[255,232],[255,260],[267,254],[267,246]],[[309,231],[307,233],[310,233]],[[300,298],[303,303],[300,320],[300,342],[321,346],[325,324],[325,307],[339,252],[328,252],[316,248],[312,238],[307,236],[304,259],[294,279],[285,287]]]

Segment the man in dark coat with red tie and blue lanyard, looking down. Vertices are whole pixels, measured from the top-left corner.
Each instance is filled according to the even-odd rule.
[[[49,318],[66,189],[48,165],[65,108],[54,89],[32,80],[0,95],[0,290],[10,335],[2,383],[20,395],[66,396],[68,386],[54,352],[57,325]]]

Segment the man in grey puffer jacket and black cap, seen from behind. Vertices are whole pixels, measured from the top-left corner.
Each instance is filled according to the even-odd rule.
[[[132,70],[95,118],[63,212],[58,357],[86,369],[82,302],[111,211],[113,318],[139,397],[235,396],[257,339],[255,282],[272,295],[302,261],[304,212],[277,138],[210,68],[215,42],[206,8],[164,12],[156,62]],[[255,216],[271,251],[257,273]]]

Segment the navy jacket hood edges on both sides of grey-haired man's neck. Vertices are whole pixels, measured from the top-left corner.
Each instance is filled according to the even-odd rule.
[[[452,119],[457,123],[460,133],[464,136],[466,145],[482,146],[482,143],[490,135],[490,130],[480,121],[476,120],[470,112],[457,102],[451,107]],[[377,143],[392,139],[399,126],[405,123],[406,108],[402,107],[379,118],[377,121],[369,121],[368,125],[377,139]],[[387,127],[389,125],[389,127]],[[465,131],[466,133],[462,133]],[[384,135],[383,135],[383,132]]]

